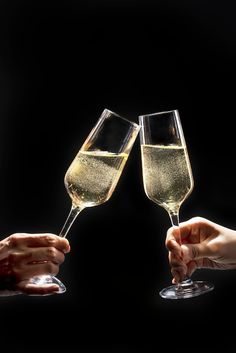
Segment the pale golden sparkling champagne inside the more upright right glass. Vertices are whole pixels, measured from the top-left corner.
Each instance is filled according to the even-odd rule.
[[[141,145],[144,187],[147,196],[175,212],[193,189],[186,147]]]

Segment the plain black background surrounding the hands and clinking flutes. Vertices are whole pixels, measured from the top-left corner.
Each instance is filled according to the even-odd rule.
[[[235,228],[234,1],[0,2],[0,232],[58,233],[63,178],[104,108],[178,109],[195,187],[180,218]],[[10,352],[235,352],[235,271],[215,290],[165,301],[170,221],[142,187],[139,141],[111,200],[86,209],[68,239],[63,295],[0,299]]]

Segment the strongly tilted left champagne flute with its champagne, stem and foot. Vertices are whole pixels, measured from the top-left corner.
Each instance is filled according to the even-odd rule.
[[[78,214],[87,207],[101,205],[113,194],[140,126],[105,109],[69,166],[64,182],[71,209],[60,232],[66,237]],[[65,285],[54,276],[33,278],[34,284]]]

